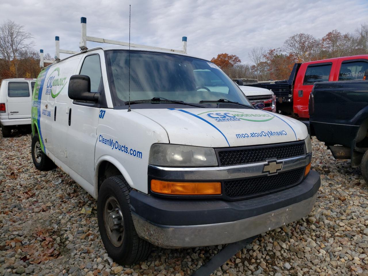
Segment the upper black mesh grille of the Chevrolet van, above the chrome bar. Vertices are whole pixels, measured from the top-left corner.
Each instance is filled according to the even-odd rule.
[[[234,166],[304,155],[304,142],[269,146],[217,149],[220,166]]]

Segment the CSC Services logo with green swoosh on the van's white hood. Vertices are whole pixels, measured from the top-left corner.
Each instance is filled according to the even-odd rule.
[[[240,121],[240,120],[251,122],[266,122],[275,118],[275,116],[270,114],[252,114],[234,110],[223,110],[226,112],[216,112],[216,111],[218,110],[206,111],[199,113],[198,115],[206,114],[207,117],[212,118],[213,120],[216,120],[218,122]]]

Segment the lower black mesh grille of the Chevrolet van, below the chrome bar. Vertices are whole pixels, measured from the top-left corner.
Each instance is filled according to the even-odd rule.
[[[279,173],[273,176],[261,176],[240,180],[225,181],[224,190],[227,197],[256,197],[277,190],[290,188],[298,184],[304,174],[304,167]]]

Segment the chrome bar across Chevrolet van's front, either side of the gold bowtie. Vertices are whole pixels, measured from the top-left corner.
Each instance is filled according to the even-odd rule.
[[[278,159],[277,162],[283,162],[282,169],[278,173],[307,166],[311,160],[312,153],[293,158]],[[148,175],[170,180],[224,180],[267,175],[267,173],[262,173],[265,164],[267,164],[266,161],[237,166],[196,168],[148,165]]]

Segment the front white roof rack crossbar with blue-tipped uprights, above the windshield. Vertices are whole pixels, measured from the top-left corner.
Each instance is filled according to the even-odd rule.
[[[87,36],[87,18],[81,17],[81,41],[79,42],[79,48],[81,51],[87,49],[87,41],[91,42],[99,42],[99,43],[108,43],[108,44],[114,44],[114,45],[122,45],[122,46],[129,46],[128,42],[122,42],[117,40],[110,40],[110,39],[104,39],[104,38],[96,38],[93,36]],[[163,50],[163,51],[169,51],[169,52],[177,52],[177,53],[187,53],[187,37],[183,36],[182,38],[182,50],[176,50],[176,49],[167,49],[162,47],[155,47],[155,46],[147,46],[147,45],[140,45],[135,43],[130,43],[130,47],[138,47],[138,48],[146,48],[146,49],[154,49],[154,50]]]

